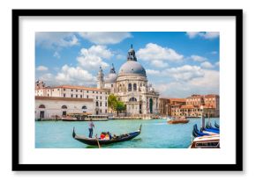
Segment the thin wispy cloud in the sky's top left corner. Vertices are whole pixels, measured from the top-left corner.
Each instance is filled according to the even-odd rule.
[[[45,48],[72,47],[79,44],[74,32],[36,32],[35,44]]]

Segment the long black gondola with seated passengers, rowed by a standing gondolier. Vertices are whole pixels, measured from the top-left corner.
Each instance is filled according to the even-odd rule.
[[[87,145],[95,145],[99,146],[99,144],[102,145],[107,145],[107,144],[112,144],[116,142],[122,142],[125,140],[132,140],[133,138],[137,137],[139,133],[141,132],[141,125],[139,126],[139,130],[132,132],[132,133],[124,133],[121,135],[118,135],[117,137],[111,138],[111,140],[101,140],[99,138],[88,138],[84,135],[78,135],[75,133],[75,128],[73,128],[73,133],[72,136],[75,140],[79,140],[82,143],[85,143]]]

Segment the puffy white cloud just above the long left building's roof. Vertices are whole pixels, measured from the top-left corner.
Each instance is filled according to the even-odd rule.
[[[96,78],[91,75],[87,70],[80,67],[70,67],[64,65],[61,71],[56,75],[56,83],[58,84],[94,84]]]

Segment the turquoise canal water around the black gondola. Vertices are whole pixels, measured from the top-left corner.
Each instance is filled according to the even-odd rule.
[[[207,119],[206,119],[207,121]],[[210,119],[212,125],[219,119]],[[188,148],[191,143],[192,126],[201,125],[200,119],[190,119],[187,124],[169,125],[166,119],[109,120],[94,122],[94,134],[130,133],[139,129],[141,133],[133,140],[103,146],[102,148]],[[97,148],[74,140],[72,128],[77,134],[88,135],[88,122],[36,121],[35,148]]]

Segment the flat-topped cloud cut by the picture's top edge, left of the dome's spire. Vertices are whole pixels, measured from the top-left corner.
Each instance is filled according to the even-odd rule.
[[[79,32],[79,35],[95,44],[117,44],[126,38],[131,38],[130,32]]]

